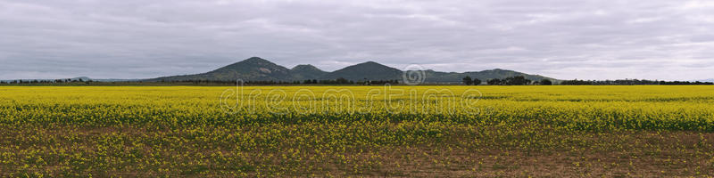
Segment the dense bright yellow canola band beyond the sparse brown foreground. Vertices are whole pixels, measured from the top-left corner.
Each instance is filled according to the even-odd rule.
[[[3,124],[539,122],[714,131],[714,86],[6,86]]]

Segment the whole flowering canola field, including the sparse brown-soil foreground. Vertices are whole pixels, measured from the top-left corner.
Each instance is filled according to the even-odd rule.
[[[714,86],[3,86],[0,176],[714,176]]]

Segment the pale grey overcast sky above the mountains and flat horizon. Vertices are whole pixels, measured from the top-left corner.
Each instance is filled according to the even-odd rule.
[[[714,1],[0,0],[0,79],[161,77],[252,56],[328,71],[714,78]]]

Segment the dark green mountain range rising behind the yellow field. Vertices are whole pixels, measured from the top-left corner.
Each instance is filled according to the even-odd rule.
[[[394,69],[374,61],[367,61],[352,66],[338,69],[332,72],[327,72],[318,69],[310,64],[297,65],[293,69],[275,64],[271,61],[264,60],[259,57],[252,57],[244,61],[239,61],[220,69],[215,69],[206,73],[157,77],[146,79],[148,82],[159,81],[188,81],[188,80],[214,80],[214,81],[234,81],[238,78],[244,81],[303,81],[307,79],[317,80],[334,80],[343,77],[353,81],[364,80],[401,80],[404,71]],[[481,81],[486,81],[492,78],[505,78],[523,76],[527,79],[540,81],[542,79],[551,79],[551,77],[543,77],[539,75],[529,75],[522,72],[517,72],[507,69],[489,69],[474,72],[440,72],[431,69],[423,70],[422,74],[426,74],[424,82],[426,83],[460,83],[463,77],[478,78]]]

